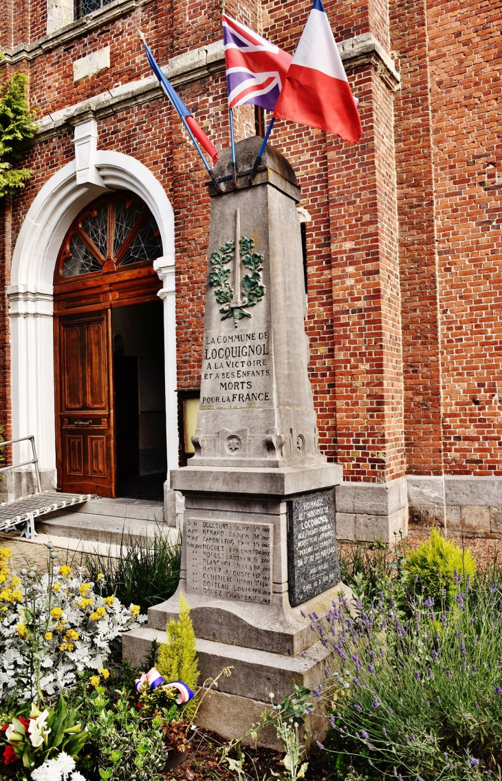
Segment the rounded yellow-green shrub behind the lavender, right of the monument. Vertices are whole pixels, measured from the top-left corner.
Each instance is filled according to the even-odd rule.
[[[442,598],[451,601],[454,597],[460,586],[458,576],[464,583],[468,576],[474,577],[475,558],[468,548],[463,551],[433,529],[429,540],[408,553],[405,569],[409,580],[418,578],[418,586],[440,604]]]

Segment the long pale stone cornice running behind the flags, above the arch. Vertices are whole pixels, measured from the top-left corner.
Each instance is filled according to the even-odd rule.
[[[130,2],[140,3],[144,0],[130,0]],[[339,44],[339,49],[346,70],[351,71],[371,64],[376,67],[380,77],[392,90],[399,89],[401,79],[393,60],[371,33],[343,41]],[[173,57],[162,70],[176,87],[218,73],[224,66],[223,41],[218,41]],[[93,98],[42,117],[36,123],[35,139],[41,141],[70,130],[88,119],[104,119],[118,111],[126,111],[141,103],[161,98],[163,95],[155,76],[121,84],[111,91],[101,92]]]

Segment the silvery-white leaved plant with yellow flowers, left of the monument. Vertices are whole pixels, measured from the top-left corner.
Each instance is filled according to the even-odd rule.
[[[0,604],[0,701],[15,690],[30,699],[34,655],[41,690],[54,694],[73,683],[76,670],[105,668],[112,640],[147,619],[137,605],[102,597],[82,569],[73,575],[66,565],[36,580],[24,576],[17,593]]]

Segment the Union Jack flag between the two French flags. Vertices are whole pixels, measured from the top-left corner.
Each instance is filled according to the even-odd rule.
[[[229,108],[253,103],[273,111],[293,58],[226,13],[223,42]]]

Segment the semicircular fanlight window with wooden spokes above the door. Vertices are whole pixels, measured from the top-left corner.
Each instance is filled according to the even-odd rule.
[[[64,277],[112,271],[162,255],[157,223],[148,206],[130,193],[100,198],[81,212],[62,248]]]

